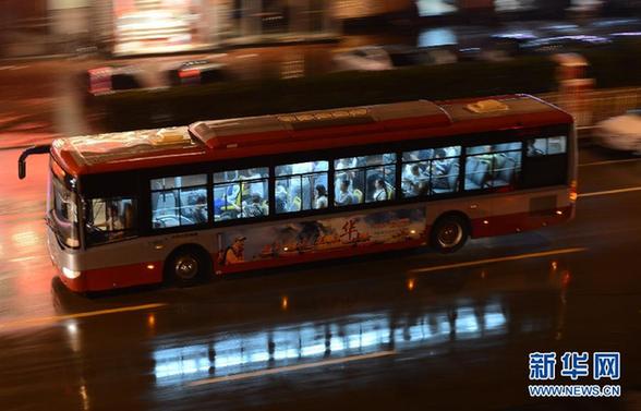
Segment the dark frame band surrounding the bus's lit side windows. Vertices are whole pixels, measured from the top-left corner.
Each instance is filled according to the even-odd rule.
[[[216,162],[197,162],[191,165],[181,165],[178,167],[166,167],[162,169],[157,169],[152,172],[147,172],[140,179],[140,197],[149,197],[150,195],[150,186],[149,181],[152,179],[158,178],[166,178],[171,176],[191,176],[191,174],[198,174],[198,173],[206,173],[207,174],[207,201],[208,204],[211,205],[208,207],[208,222],[202,225],[191,225],[191,226],[178,226],[178,227],[169,227],[169,228],[152,228],[150,227],[150,218],[152,218],[152,210],[150,210],[150,201],[138,201],[138,231],[140,235],[157,235],[157,234],[172,234],[172,233],[180,233],[180,232],[190,232],[194,230],[201,229],[223,229],[229,227],[240,227],[245,225],[253,225],[253,223],[269,223],[269,222],[277,222],[277,221],[285,221],[290,219],[306,219],[313,218],[317,216],[332,216],[332,215],[341,215],[341,214],[350,214],[354,211],[368,211],[374,208],[382,208],[382,207],[402,207],[407,206],[408,204],[425,204],[433,201],[442,201],[442,200],[449,200],[449,198],[464,198],[470,196],[476,195],[492,195],[494,193],[504,193],[506,192],[506,186],[498,186],[498,188],[486,188],[482,190],[469,190],[465,191],[463,189],[464,178],[465,178],[465,160],[467,154],[465,148],[471,146],[484,145],[484,144],[504,144],[504,143],[513,143],[513,142],[521,142],[521,177],[515,188],[510,192],[518,192],[518,191],[525,191],[525,190],[534,190],[540,189],[543,186],[553,186],[553,185],[542,185],[542,186],[523,186],[521,183],[522,174],[527,167],[525,161],[525,149],[527,149],[527,140],[537,137],[553,137],[558,135],[565,135],[567,138],[567,150],[564,154],[554,155],[554,156],[566,156],[567,157],[567,168],[565,170],[565,176],[567,180],[567,184],[569,184],[570,172],[571,172],[571,160],[570,160],[570,153],[575,150],[575,147],[571,146],[572,138],[572,124],[570,123],[561,123],[561,124],[554,124],[547,126],[536,126],[536,128],[520,128],[520,129],[509,129],[509,130],[494,130],[488,132],[482,133],[463,133],[463,134],[450,134],[450,135],[438,135],[438,136],[426,136],[424,138],[416,138],[416,140],[409,140],[409,141],[399,141],[395,143],[388,144],[388,147],[384,147],[382,144],[372,144],[372,145],[359,145],[359,146],[347,146],[347,147],[338,147],[338,148],[330,148],[330,149],[315,149],[310,152],[297,152],[297,153],[286,153],[278,156],[273,156],[269,159],[261,158],[261,157],[249,157],[249,158],[235,158],[235,159],[226,159]],[[402,192],[402,154],[406,152],[425,149],[425,148],[443,148],[443,147],[451,147],[451,146],[460,146],[461,153],[459,156],[459,177],[458,177],[458,190],[451,193],[434,193],[427,196],[415,196],[415,197],[404,197],[400,193]],[[395,154],[396,161],[394,166],[396,167],[396,182],[395,182],[395,190],[396,190],[396,197],[389,201],[382,201],[382,202],[370,202],[362,204],[351,204],[347,206],[336,206],[335,203],[335,161],[340,158],[347,157],[361,157],[361,156],[370,156],[370,155],[380,155],[380,154]],[[239,161],[242,161],[242,167],[239,167]],[[276,167],[282,165],[293,165],[299,162],[307,162],[307,161],[328,161],[328,169],[327,169],[327,190],[328,190],[328,206],[327,208],[320,209],[309,209],[309,210],[301,210],[301,211],[291,211],[291,213],[276,213],[276,202],[275,202],[275,189],[276,189]],[[389,167],[389,166],[387,166]],[[268,177],[268,198],[269,198],[269,215],[268,216],[258,216],[258,217],[247,217],[247,218],[238,218],[231,220],[222,220],[222,221],[214,221],[214,184],[213,184],[213,176],[217,172],[223,172],[227,170],[239,170],[239,169],[249,169],[249,168],[268,168],[269,177]],[[323,171],[325,172],[325,171]]]

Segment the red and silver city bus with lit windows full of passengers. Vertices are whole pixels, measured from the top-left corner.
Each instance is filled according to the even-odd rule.
[[[78,292],[477,239],[573,217],[572,117],[529,95],[60,138],[48,245]]]

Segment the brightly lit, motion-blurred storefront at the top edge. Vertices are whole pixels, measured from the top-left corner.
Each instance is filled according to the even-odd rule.
[[[93,1],[94,38],[116,55],[289,43],[339,35],[327,0]]]

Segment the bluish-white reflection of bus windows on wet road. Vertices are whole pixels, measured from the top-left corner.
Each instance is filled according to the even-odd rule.
[[[241,375],[287,367],[313,360],[350,359],[394,353],[416,346],[436,346],[450,338],[473,339],[505,333],[499,304],[474,311],[434,312],[419,317],[390,317],[385,313],[347,316],[336,323],[303,323],[268,331],[220,338],[206,344],[165,348],[154,352],[159,385],[205,377]],[[314,363],[307,363],[314,365]],[[316,363],[325,365],[326,362]],[[259,374],[252,373],[250,376]]]

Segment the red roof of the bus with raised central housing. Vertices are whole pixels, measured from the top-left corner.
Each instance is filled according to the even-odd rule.
[[[571,123],[529,95],[408,101],[56,140],[51,153],[71,174],[328,149],[406,140]]]

